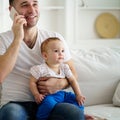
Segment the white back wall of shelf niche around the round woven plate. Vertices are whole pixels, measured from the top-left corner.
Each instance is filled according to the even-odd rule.
[[[81,40],[87,40],[87,39],[99,39],[98,34],[96,33],[95,29],[95,21],[96,18],[101,13],[111,13],[114,15],[118,21],[120,21],[120,10],[79,10],[79,16],[78,21],[79,24],[77,26],[77,37]],[[86,37],[87,36],[87,37]],[[116,36],[116,38],[119,38],[120,34]]]

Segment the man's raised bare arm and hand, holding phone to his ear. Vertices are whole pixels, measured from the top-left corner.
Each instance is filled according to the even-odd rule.
[[[21,41],[24,38],[23,25],[26,23],[22,16],[15,16],[12,30],[14,40],[3,55],[0,55],[0,83],[12,71],[19,53]]]

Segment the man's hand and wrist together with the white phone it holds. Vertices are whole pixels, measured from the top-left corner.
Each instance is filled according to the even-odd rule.
[[[17,39],[24,38],[24,27],[27,26],[27,21],[23,15],[19,15],[19,13],[15,10],[14,7],[11,8],[10,17],[13,20],[12,30],[14,33],[14,37]]]

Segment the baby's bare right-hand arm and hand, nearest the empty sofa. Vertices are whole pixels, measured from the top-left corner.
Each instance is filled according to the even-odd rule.
[[[79,84],[74,76],[68,78],[68,81],[76,95],[76,100],[79,105],[84,104],[85,96],[82,95]]]

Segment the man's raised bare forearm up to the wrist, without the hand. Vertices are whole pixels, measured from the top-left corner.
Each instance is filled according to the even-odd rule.
[[[15,39],[7,51],[0,55],[0,83],[12,71],[17,59],[19,46],[18,39]]]

